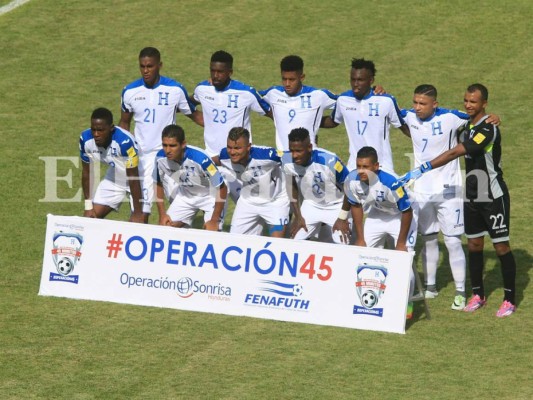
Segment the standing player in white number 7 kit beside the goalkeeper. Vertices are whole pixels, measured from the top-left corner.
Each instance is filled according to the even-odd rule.
[[[415,165],[423,164],[458,143],[459,131],[468,114],[438,107],[437,89],[418,86],[413,95],[413,108],[402,111],[413,142]],[[418,232],[422,235],[422,266],[426,279],[426,298],[438,295],[436,288],[439,261],[438,233],[442,232],[448,249],[450,268],[455,282],[453,310],[466,304],[466,259],[461,243],[464,233],[463,183],[459,160],[433,169],[418,179],[413,188],[418,203]]]

